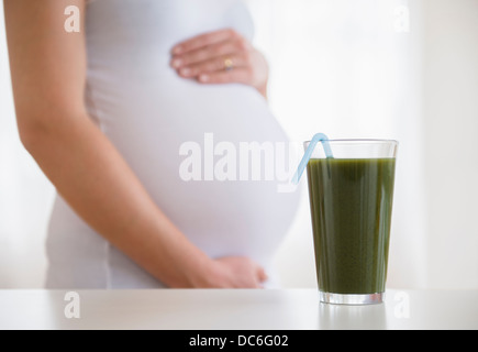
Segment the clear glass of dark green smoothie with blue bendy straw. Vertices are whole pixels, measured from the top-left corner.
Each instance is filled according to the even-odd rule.
[[[398,142],[326,143],[316,144],[307,165],[320,299],[382,302]]]

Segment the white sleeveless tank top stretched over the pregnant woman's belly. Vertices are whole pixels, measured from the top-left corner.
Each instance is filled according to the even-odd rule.
[[[273,256],[299,195],[278,193],[277,182],[265,177],[223,180],[213,172],[221,155],[214,156],[211,145],[225,142],[238,152],[241,143],[287,143],[287,136],[254,88],[199,85],[169,66],[175,44],[224,28],[252,38],[252,20],[241,1],[90,1],[86,103],[157,206],[192,243],[211,257],[249,256],[274,277]],[[181,147],[189,154],[180,155]],[[194,148],[203,156],[200,172],[193,170],[200,179],[188,182],[185,170],[192,170],[187,163]],[[47,256],[48,288],[164,287],[59,196]]]

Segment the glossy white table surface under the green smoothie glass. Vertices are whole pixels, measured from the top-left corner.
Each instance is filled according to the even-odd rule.
[[[78,290],[78,319],[66,293],[0,290],[0,329],[478,329],[478,290],[388,290],[359,307],[315,289]]]

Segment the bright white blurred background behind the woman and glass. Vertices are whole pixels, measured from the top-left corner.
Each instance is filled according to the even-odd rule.
[[[401,143],[389,287],[478,288],[478,0],[251,6],[270,105],[293,141],[324,132]],[[315,286],[301,186],[277,256],[287,287]],[[0,7],[0,287],[42,287],[53,193],[18,138]]]

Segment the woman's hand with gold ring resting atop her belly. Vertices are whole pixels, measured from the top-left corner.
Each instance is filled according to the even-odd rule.
[[[244,84],[267,96],[267,62],[234,30],[201,34],[177,44],[171,54],[171,66],[184,78],[201,84]]]

